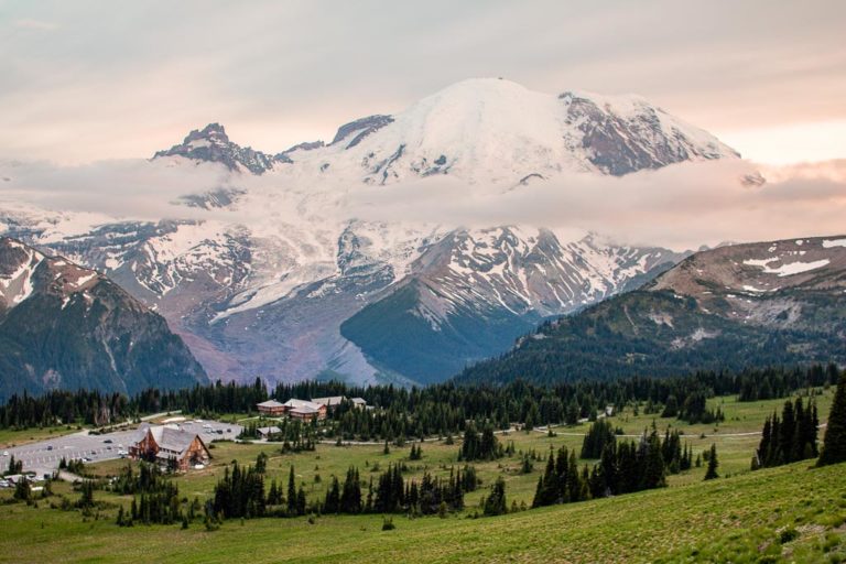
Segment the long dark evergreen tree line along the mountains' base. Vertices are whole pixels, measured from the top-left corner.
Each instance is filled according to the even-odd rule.
[[[794,390],[835,384],[835,366],[760,368],[741,372],[703,371],[675,378],[634,377],[617,381],[579,380],[538,386],[514,381],[506,386],[459,386],[445,382],[426,388],[394,386],[349,387],[340,382],[303,382],[278,386],[269,393],[260,379],[250,384],[217,382],[186,390],[145,390],[132,398],[96,391],[51,391],[41,397],[13,395],[0,406],[0,427],[25,429],[76,422],[105,425],[159,411],[182,410],[205,415],[253,413],[256,404],[274,397],[362,397],[373,410],[343,402],[329,413],[325,435],[341,440],[411,440],[463,433],[468,422],[485,422],[508,429],[513,422],[529,427],[573,424],[594,420],[608,406],[619,410],[646,402],[664,416],[691,423],[719,421],[718,410],[708,410],[714,395],[738,394],[741,400],[788,395]],[[293,441],[292,441],[293,444]]]

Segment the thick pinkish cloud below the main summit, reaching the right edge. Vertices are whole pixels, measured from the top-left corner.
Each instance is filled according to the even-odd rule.
[[[571,174],[496,195],[455,180],[425,180],[366,188],[350,204],[367,219],[579,228],[675,249],[846,232],[846,161],[770,167],[773,180],[762,186],[741,182],[758,170],[713,161],[623,177]]]

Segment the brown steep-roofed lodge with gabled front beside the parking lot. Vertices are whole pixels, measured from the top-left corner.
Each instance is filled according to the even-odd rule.
[[[147,424],[141,425],[135,442],[129,446],[129,457],[134,460],[156,460],[162,466],[175,459],[181,471],[197,464],[206,465],[212,459],[198,434],[167,425]]]

